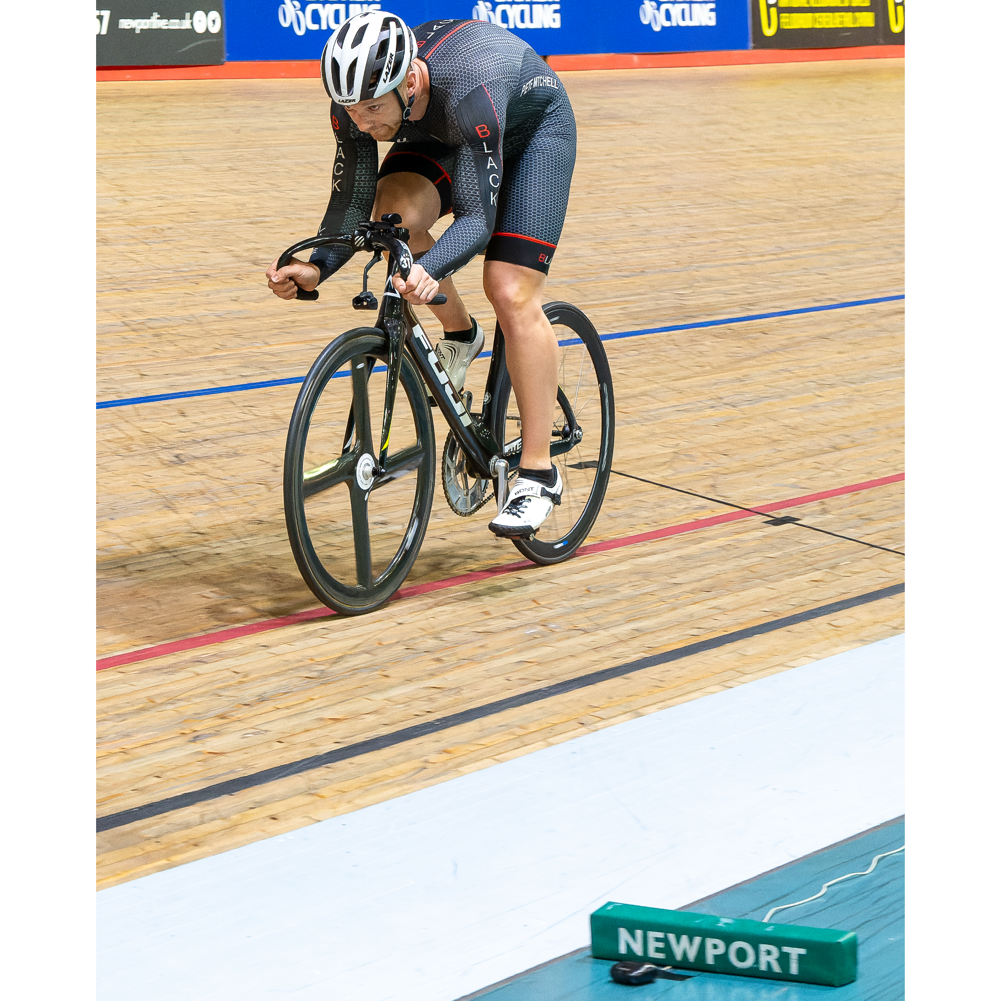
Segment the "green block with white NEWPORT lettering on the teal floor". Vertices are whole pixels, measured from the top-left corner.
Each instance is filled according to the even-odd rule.
[[[855,932],[765,924],[609,902],[591,916],[596,959],[841,987],[856,976]]]

